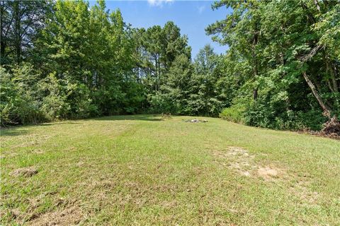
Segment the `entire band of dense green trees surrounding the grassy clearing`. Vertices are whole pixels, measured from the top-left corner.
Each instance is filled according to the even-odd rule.
[[[216,1],[227,45],[191,56],[169,21],[133,28],[105,1],[0,1],[1,126],[111,114],[319,130],[340,113],[340,1]],[[204,45],[204,44],[203,44]]]

